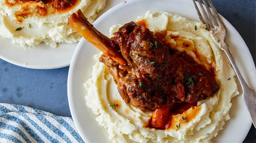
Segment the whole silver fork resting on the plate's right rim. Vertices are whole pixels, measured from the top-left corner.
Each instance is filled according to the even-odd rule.
[[[218,12],[216,11],[214,5],[212,4],[211,0],[207,0],[211,8],[208,6],[206,0],[203,0],[204,6],[201,3],[201,0],[197,0],[197,1],[200,5],[200,9],[204,15],[204,18],[203,18],[202,14],[200,13],[199,8],[197,7],[195,0],[193,0],[193,3],[195,5],[196,12],[199,16],[199,19],[204,24],[206,24],[206,29],[209,31],[212,31],[213,35],[219,39],[219,43],[221,43],[221,50],[223,50],[225,52],[225,54],[227,55],[227,58],[229,59],[231,65],[233,66],[233,69],[237,75],[237,78],[242,86],[242,97],[244,98],[245,105],[251,115],[252,123],[253,123],[254,127],[256,127],[255,126],[256,125],[255,92],[251,88],[249,88],[249,86],[246,84],[244,78],[242,77],[240,71],[238,70],[237,65],[230,53],[229,46],[225,42],[225,38],[227,35],[226,28],[219,16]]]

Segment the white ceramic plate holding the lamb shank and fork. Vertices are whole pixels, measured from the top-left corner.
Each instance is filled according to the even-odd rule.
[[[136,20],[147,10],[177,13],[190,20],[199,21],[191,0],[129,0],[105,12],[94,22],[94,26],[103,34],[109,35],[109,27],[113,24]],[[227,20],[223,20],[228,30],[226,42],[231,47],[237,66],[249,86],[255,85],[253,80],[255,77],[252,76],[256,75],[256,71],[252,57],[248,56],[251,55],[248,47],[236,29]],[[82,38],[75,50],[68,73],[69,108],[85,142],[109,142],[107,130],[98,125],[96,116],[86,106],[84,99],[87,92],[83,83],[91,77],[92,66],[95,64],[93,56],[98,52]],[[248,134],[252,122],[241,95],[234,97],[231,102],[233,103],[230,110],[231,119],[226,122],[224,129],[219,131],[213,142],[242,142]]]

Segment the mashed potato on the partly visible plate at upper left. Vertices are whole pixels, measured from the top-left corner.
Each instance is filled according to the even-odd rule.
[[[16,5],[13,5],[14,2]],[[54,5],[49,6],[39,0],[34,2],[0,0],[0,35],[24,47],[33,47],[41,42],[52,47],[57,47],[59,43],[75,43],[81,39],[81,36],[67,27],[68,17],[81,9],[88,20],[94,22],[97,12],[106,4],[106,0],[78,0],[72,9],[60,12],[54,10],[50,14],[41,16],[36,15],[37,12],[33,13],[36,7],[53,9]],[[22,15],[17,14],[21,11],[23,11]],[[30,16],[26,15],[26,11],[30,11]]]

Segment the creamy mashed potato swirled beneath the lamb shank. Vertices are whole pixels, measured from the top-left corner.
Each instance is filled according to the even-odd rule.
[[[87,106],[97,115],[99,125],[107,129],[112,142],[210,142],[222,130],[225,121],[230,119],[230,100],[238,94],[234,71],[220,51],[220,44],[203,23],[190,21],[180,15],[148,11],[144,16],[139,16],[136,22],[146,23],[151,31],[166,30],[165,38],[172,48],[186,52],[207,69],[215,66],[215,80],[220,90],[213,97],[199,101],[197,107],[173,115],[169,129],[148,128],[152,112],[125,104],[108,69],[98,62],[101,55],[98,54],[95,55],[92,78],[84,84],[88,91],[85,96]],[[111,27],[110,33],[120,26]],[[181,41],[190,42],[190,45],[181,46]]]

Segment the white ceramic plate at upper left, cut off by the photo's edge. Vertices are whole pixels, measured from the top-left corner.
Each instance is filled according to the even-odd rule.
[[[61,43],[53,48],[45,43],[26,49],[0,36],[0,58],[14,65],[31,69],[56,69],[69,66],[78,43]]]

